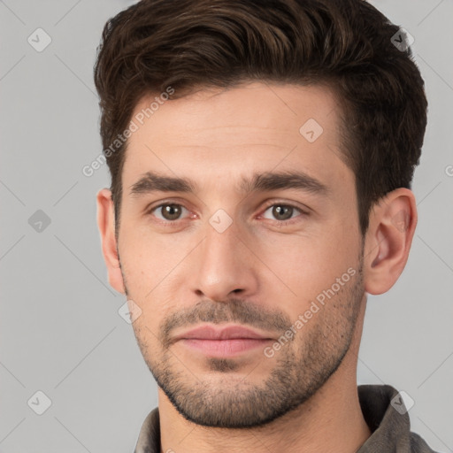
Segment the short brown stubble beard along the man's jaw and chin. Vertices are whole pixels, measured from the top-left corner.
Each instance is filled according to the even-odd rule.
[[[272,358],[258,355],[257,361],[275,361],[272,372],[260,385],[251,383],[249,376],[235,374],[240,365],[234,358],[206,357],[211,379],[203,380],[202,373],[190,372],[190,364],[182,365],[175,356],[165,336],[169,334],[168,324],[165,328],[161,326],[158,355],[156,347],[149,347],[144,340],[147,336],[151,338],[150,332],[134,326],[142,355],[157,385],[180,415],[201,426],[232,429],[265,426],[295,410],[326,383],[349,350],[364,296],[363,255],[359,261],[355,278],[342,287],[333,301],[326,302],[292,342],[282,345]],[[240,315],[246,306],[240,299],[232,300],[231,305],[211,303],[203,315],[191,311],[191,319],[211,322],[248,319],[253,326],[250,313]],[[230,307],[236,310],[235,314],[228,311]],[[250,377],[254,366],[251,368]],[[219,375],[219,379],[212,380],[213,374]]]

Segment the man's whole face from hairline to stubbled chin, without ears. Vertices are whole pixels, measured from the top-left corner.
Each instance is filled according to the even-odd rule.
[[[135,120],[123,284],[150,372],[196,424],[264,425],[310,398],[349,349],[363,249],[338,114],[326,88],[254,82]],[[189,339],[199,326],[259,338]]]

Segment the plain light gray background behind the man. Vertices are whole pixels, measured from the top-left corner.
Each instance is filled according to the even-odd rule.
[[[109,185],[107,168],[81,173],[102,150],[96,46],[106,19],[132,3],[0,1],[3,453],[132,452],[157,405],[132,326],[119,316],[125,298],[106,278],[95,197]],[[412,430],[451,452],[453,3],[372,4],[414,36],[429,118],[411,255],[388,293],[369,296],[357,380],[411,395]],[[42,52],[27,42],[38,27],[52,40]],[[40,232],[29,224],[38,210],[50,218]],[[51,400],[42,415],[32,410],[43,408],[38,390]]]

